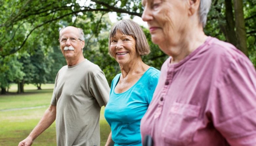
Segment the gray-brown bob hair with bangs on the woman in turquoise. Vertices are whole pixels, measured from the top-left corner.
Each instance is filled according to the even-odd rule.
[[[140,55],[147,55],[150,53],[150,48],[147,42],[147,38],[141,29],[141,27],[134,21],[130,19],[124,19],[118,21],[111,29],[109,34],[109,53],[113,57],[113,54],[110,52],[110,44],[111,44],[111,37],[115,36],[117,31],[120,31],[121,33],[125,35],[131,35],[134,37],[136,41],[136,52],[138,52]]]

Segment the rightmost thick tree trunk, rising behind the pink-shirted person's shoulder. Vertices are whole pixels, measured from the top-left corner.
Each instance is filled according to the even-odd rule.
[[[237,48],[248,56],[247,44],[246,44],[246,31],[245,31],[245,18],[243,10],[243,0],[234,0],[234,10],[236,18],[236,37]]]

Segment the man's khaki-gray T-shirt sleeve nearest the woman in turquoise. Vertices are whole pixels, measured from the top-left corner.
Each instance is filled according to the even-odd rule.
[[[102,71],[96,73],[90,85],[91,94],[96,98],[99,106],[105,106],[109,100],[110,88]]]

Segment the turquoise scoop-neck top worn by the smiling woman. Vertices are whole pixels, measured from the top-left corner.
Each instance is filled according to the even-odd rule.
[[[140,120],[146,113],[158,83],[160,71],[150,67],[129,90],[115,93],[121,73],[112,80],[104,116],[115,146],[141,146]]]

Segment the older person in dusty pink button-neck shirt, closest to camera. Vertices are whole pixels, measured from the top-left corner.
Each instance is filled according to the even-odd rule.
[[[235,46],[204,34],[211,0],[142,5],[153,43],[170,56],[141,119],[142,139],[155,146],[255,146],[255,68]]]

